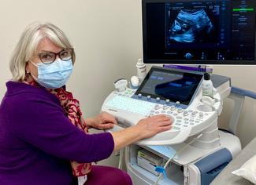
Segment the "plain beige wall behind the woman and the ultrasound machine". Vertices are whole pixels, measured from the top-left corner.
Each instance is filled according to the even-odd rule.
[[[6,92],[5,82],[11,79],[13,48],[24,28],[36,20],[58,25],[74,45],[77,60],[68,89],[80,100],[85,117],[98,114],[117,78],[135,74],[135,62],[142,53],[140,0],[2,0],[0,99]],[[215,73],[232,77],[234,85],[256,91],[255,67],[214,68]],[[243,144],[256,135],[255,109],[255,103],[247,100],[239,126]],[[221,122],[227,119],[221,115]],[[117,165],[117,158],[103,163]]]

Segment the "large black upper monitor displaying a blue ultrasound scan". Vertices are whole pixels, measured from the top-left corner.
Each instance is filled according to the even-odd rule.
[[[255,61],[255,0],[143,0],[144,63]]]

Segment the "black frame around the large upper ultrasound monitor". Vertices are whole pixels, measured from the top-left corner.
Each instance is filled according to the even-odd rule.
[[[190,1],[190,0],[187,0]],[[203,1],[203,0],[200,0]],[[209,0],[206,0],[209,1]],[[232,1],[232,0],[231,0]],[[250,0],[254,1],[254,0]],[[171,0],[142,0],[142,19],[143,19],[143,62],[144,63],[157,63],[157,64],[201,64],[201,65],[256,65],[256,31],[255,31],[255,50],[254,60],[162,60],[162,59],[148,59],[147,49],[147,4],[148,3],[166,3],[173,2]],[[255,8],[256,9],[256,8]],[[255,10],[256,11],[256,10]],[[256,30],[256,19],[254,23],[254,29]]]

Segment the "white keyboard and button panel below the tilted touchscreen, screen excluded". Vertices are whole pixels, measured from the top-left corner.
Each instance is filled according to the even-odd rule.
[[[212,111],[204,111],[201,96],[195,98],[191,106],[180,107],[180,104],[160,104],[132,98],[135,89],[126,89],[124,92],[110,93],[102,105],[102,111],[113,114],[119,125],[110,131],[117,131],[135,125],[142,118],[157,114],[166,114],[173,119],[173,128],[166,132],[141,140],[143,145],[165,145],[182,143],[188,136],[193,136],[206,129],[217,119],[217,110],[221,106],[220,97],[215,95]]]

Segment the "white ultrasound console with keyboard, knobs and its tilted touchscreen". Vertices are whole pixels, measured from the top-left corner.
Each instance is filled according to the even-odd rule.
[[[135,125],[139,120],[165,114],[172,118],[169,131],[139,141],[140,145],[182,143],[204,129],[216,124],[222,108],[221,97],[215,90],[211,103],[202,100],[201,74],[184,74],[159,67],[151,68],[139,89],[116,89],[107,96],[102,111],[113,114],[117,131]],[[166,93],[167,92],[167,93]]]

